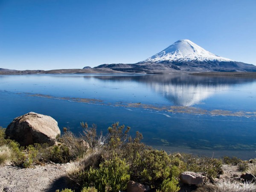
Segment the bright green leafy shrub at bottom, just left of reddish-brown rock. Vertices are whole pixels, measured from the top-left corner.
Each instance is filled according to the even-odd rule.
[[[99,192],[117,192],[125,190],[130,175],[129,166],[125,160],[114,157],[99,165],[99,169],[92,167],[84,172],[84,186],[94,186]]]

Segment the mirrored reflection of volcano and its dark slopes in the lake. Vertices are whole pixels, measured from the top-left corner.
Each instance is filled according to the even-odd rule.
[[[84,76],[84,78],[92,78]],[[103,81],[138,81],[145,83],[177,106],[193,106],[209,96],[228,90],[230,85],[254,81],[241,77],[192,75],[94,76]]]

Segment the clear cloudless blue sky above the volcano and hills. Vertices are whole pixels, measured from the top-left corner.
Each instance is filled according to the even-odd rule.
[[[0,68],[136,63],[180,39],[256,65],[256,0],[0,0]]]

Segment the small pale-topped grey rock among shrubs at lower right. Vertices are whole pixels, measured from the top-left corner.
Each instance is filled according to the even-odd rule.
[[[180,174],[180,181],[189,185],[199,185],[204,182],[204,176],[195,172],[183,172]]]

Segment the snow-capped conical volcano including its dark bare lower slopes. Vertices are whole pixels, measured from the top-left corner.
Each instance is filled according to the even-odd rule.
[[[94,68],[131,73],[256,72],[253,64],[214,55],[189,40],[176,41],[163,51],[136,64],[102,64]]]

